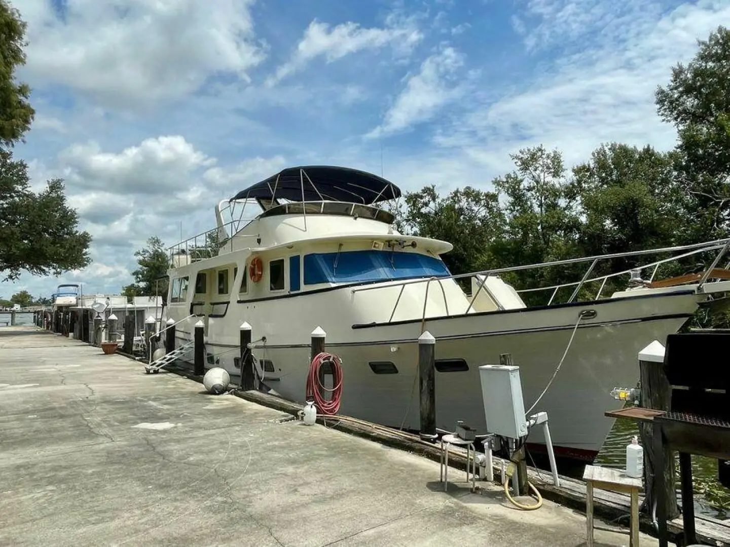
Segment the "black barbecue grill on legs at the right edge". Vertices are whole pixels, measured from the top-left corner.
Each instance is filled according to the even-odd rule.
[[[672,451],[680,455],[685,544],[696,543],[691,454],[718,459],[727,486],[730,459],[730,332],[672,334],[666,338],[664,373],[672,386],[669,412],[653,419],[656,469]],[[659,545],[667,545],[664,476],[657,476]]]

